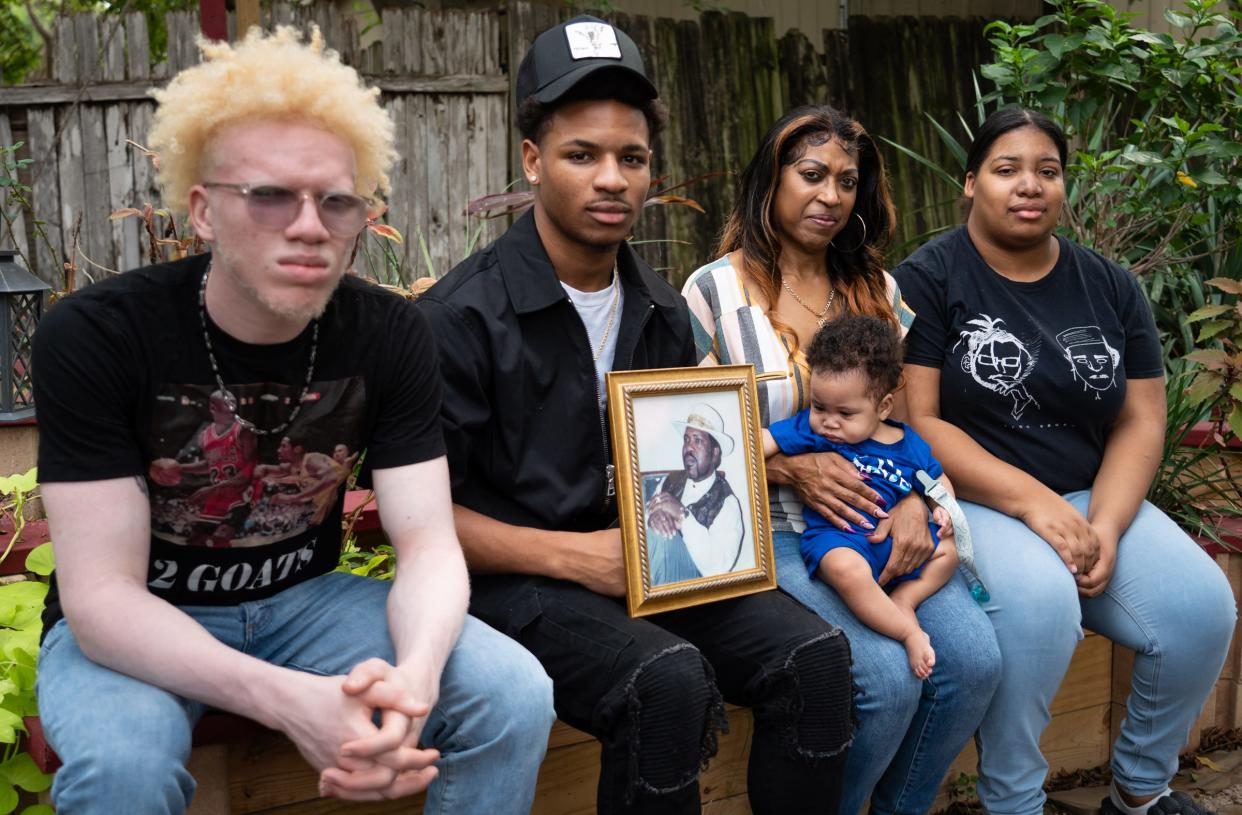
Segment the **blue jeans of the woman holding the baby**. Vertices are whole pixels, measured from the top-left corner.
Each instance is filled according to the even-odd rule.
[[[846,759],[841,813],[853,815],[868,799],[877,815],[927,813],[1000,680],[1000,650],[987,616],[956,574],[928,598],[918,616],[936,662],[920,682],[900,642],[859,622],[836,591],[807,575],[799,537],[774,535],[777,583],[840,626],[853,653],[858,728]]]

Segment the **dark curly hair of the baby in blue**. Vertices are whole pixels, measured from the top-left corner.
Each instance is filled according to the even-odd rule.
[[[902,337],[892,323],[866,314],[843,314],[821,328],[806,349],[812,374],[862,370],[867,393],[877,400],[902,384]]]

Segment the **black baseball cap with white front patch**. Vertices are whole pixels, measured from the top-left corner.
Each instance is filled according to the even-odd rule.
[[[599,17],[579,15],[540,34],[522,57],[518,106],[532,96],[545,104],[555,102],[590,75],[606,70],[628,73],[648,99],[660,96],[633,40]]]

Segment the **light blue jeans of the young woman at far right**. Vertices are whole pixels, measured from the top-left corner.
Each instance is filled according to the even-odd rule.
[[[1087,513],[1090,491],[1064,496]],[[1160,791],[1230,647],[1236,611],[1220,568],[1144,502],[1099,596],[1082,599],[1057,553],[1016,518],[961,502],[991,599],[1001,685],[979,732],[979,795],[992,815],[1038,815],[1048,764],[1040,734],[1082,626],[1136,652],[1113,776],[1135,795]],[[938,666],[939,667],[939,666]]]

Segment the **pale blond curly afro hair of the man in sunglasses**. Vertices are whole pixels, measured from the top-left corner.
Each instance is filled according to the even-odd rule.
[[[257,119],[322,125],[354,150],[354,191],[389,193],[392,119],[379,104],[379,88],[365,87],[354,68],[325,50],[318,27],[309,43],[281,26],[271,36],[251,29],[235,46],[199,37],[199,48],[201,65],[153,93],[159,107],[149,140],[160,157],[155,180],[166,206],[186,211],[190,188],[202,180],[206,147],[222,127]]]

